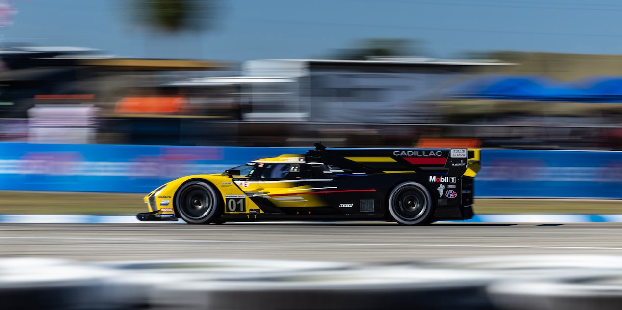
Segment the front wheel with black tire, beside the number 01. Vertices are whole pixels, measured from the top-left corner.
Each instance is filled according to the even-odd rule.
[[[207,181],[184,183],[175,194],[175,211],[188,224],[209,224],[220,216],[222,209],[220,195]]]

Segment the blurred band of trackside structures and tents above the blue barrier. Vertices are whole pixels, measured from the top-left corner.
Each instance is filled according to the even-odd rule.
[[[0,56],[1,140],[622,148],[622,78],[615,70],[622,58],[614,56],[251,60],[238,66],[26,44],[5,47]],[[54,134],[63,130],[72,134]]]

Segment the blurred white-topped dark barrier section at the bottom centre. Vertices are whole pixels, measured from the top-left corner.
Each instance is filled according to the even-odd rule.
[[[380,310],[491,309],[486,275],[460,270],[360,268],[160,286],[156,309]]]

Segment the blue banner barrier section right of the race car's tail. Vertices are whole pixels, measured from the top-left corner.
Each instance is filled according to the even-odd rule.
[[[622,152],[481,150],[480,198],[622,199]]]

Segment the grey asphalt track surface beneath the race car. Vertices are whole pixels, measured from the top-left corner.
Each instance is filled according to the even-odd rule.
[[[622,255],[622,223],[0,224],[1,257],[391,263],[524,254]]]

